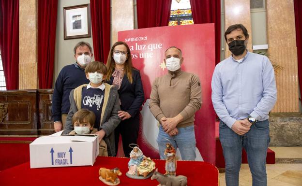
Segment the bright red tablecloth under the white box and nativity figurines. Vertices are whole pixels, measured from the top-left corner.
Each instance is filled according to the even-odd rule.
[[[93,166],[30,169],[30,162],[0,171],[0,186],[105,186],[99,180],[101,167],[120,168],[119,186],[157,186],[156,180],[128,178],[124,157],[97,157]],[[165,172],[165,161],[154,160],[159,172]],[[218,170],[207,162],[178,161],[177,174],[188,178],[188,186],[218,186]]]

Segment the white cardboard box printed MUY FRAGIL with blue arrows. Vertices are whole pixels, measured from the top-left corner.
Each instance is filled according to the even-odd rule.
[[[60,136],[55,133],[30,143],[30,168],[92,166],[98,154],[97,136]]]

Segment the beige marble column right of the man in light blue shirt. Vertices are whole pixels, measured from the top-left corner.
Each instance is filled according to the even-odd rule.
[[[268,54],[283,70],[276,73],[275,113],[299,112],[299,80],[293,0],[267,0]]]

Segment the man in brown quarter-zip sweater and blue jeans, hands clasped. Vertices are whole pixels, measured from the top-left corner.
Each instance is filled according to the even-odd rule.
[[[166,49],[164,61],[168,73],[154,80],[149,104],[160,123],[159,154],[166,159],[164,153],[169,141],[175,149],[179,148],[182,160],[195,160],[194,116],[201,107],[200,81],[196,74],[181,70],[181,49],[175,46]]]

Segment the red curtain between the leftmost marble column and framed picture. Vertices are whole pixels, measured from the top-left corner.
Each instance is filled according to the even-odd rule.
[[[39,88],[52,88],[55,61],[58,0],[39,0],[38,75]]]

